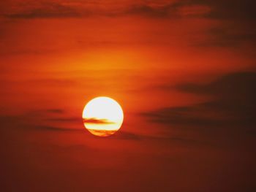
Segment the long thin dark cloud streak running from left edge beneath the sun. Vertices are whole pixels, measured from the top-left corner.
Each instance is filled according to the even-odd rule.
[[[50,112],[53,111],[55,112],[55,110],[50,110]],[[44,112],[47,112],[47,110],[44,110]],[[58,112],[56,110],[56,112]],[[51,116],[55,116],[53,113],[49,113],[48,116],[49,118],[44,119],[43,122],[41,123],[41,121],[37,121],[36,123],[31,122],[31,112],[27,112],[24,115],[19,115],[19,116],[15,116],[15,115],[0,115],[0,123],[1,123],[1,128],[0,128],[0,132],[4,133],[6,131],[8,131],[6,129],[6,127],[12,127],[12,131],[13,132],[20,132],[20,131],[25,131],[25,132],[31,132],[31,133],[35,133],[36,132],[40,132],[42,131],[42,133],[45,133],[45,131],[50,134],[51,131],[53,131],[54,133],[58,133],[58,132],[72,132],[72,133],[79,133],[79,134],[86,134],[86,138],[91,137],[94,139],[102,139],[102,137],[95,137],[92,134],[89,134],[88,131],[85,131],[85,129],[83,128],[83,125],[81,123],[81,119],[80,118],[50,118]],[[46,123],[45,122],[50,122],[50,123]],[[56,125],[56,122],[58,122],[58,124]],[[64,122],[64,123],[72,123],[75,125],[78,125],[76,128],[71,128],[68,126],[60,126],[59,122]],[[80,126],[79,126],[80,125]],[[180,144],[184,144],[184,145],[209,145],[208,142],[202,142],[199,141],[197,139],[191,139],[191,138],[185,138],[185,137],[178,137],[178,136],[173,136],[173,135],[169,135],[169,134],[165,134],[165,135],[153,135],[153,134],[138,134],[138,133],[134,133],[132,131],[123,131],[126,130],[127,127],[126,125],[123,125],[121,130],[119,131],[113,131],[113,135],[110,135],[110,137],[104,137],[104,139],[117,139],[117,140],[132,140],[132,141],[152,141],[152,142],[158,142],[160,140],[165,141],[165,142],[178,142]],[[50,131],[50,132],[49,132]],[[95,130],[94,130],[95,131]],[[102,134],[102,131],[99,132],[99,134]],[[107,131],[105,133],[106,135],[109,135],[109,132]],[[103,134],[104,135],[104,134]]]

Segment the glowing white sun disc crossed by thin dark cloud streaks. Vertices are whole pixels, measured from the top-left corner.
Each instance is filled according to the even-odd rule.
[[[83,109],[83,124],[91,134],[110,136],[121,128],[124,112],[114,99],[100,96],[92,99]]]

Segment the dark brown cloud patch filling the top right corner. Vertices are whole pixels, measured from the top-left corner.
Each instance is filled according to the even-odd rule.
[[[255,45],[256,28],[255,19],[256,2],[251,0],[217,0],[217,1],[184,1],[182,6],[200,4],[210,7],[211,11],[200,15],[222,21],[217,27],[206,31],[208,39],[203,42],[194,42],[193,45],[203,47],[237,47],[242,43]]]

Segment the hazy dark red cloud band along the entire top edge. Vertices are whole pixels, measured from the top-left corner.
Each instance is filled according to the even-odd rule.
[[[17,6],[23,9],[15,9]],[[194,17],[255,20],[254,1],[12,1],[9,18],[72,18],[91,15],[141,15],[148,17]],[[4,12],[4,9],[2,10]]]

